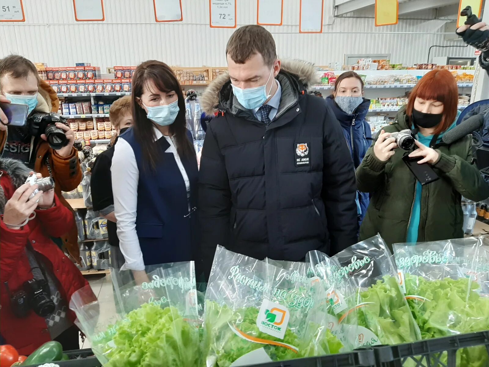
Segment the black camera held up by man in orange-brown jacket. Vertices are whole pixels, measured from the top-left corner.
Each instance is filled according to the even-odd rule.
[[[46,135],[49,146],[58,150],[68,145],[69,139],[65,131],[56,127],[56,122],[66,125],[66,119],[58,114],[50,112],[49,114],[33,114],[27,118],[29,134],[35,137]]]

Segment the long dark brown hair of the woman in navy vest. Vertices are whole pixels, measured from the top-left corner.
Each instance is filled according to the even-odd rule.
[[[180,157],[195,156],[195,149],[190,140],[187,138],[187,123],[185,120],[185,99],[183,98],[182,89],[178,79],[168,65],[161,61],[148,60],[139,64],[133,75],[133,129],[134,136],[141,145],[143,159],[146,164],[153,170],[156,169],[156,163],[161,159],[162,153],[158,150],[157,144],[154,143],[156,134],[154,122],[151,121],[146,111],[139,106],[138,98],[144,92],[144,87],[150,81],[155,83],[156,88],[161,92],[175,92],[178,96],[178,112],[175,122],[170,125],[170,134],[177,140],[177,151]]]

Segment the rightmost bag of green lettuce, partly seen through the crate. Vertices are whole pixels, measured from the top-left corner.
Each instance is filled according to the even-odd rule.
[[[483,263],[481,251],[486,250],[481,238],[415,246],[394,244],[393,248],[401,284],[422,339],[489,329],[489,298],[481,294],[478,278],[478,262]],[[440,361],[446,364],[447,356],[440,356]],[[488,364],[484,347],[457,352],[457,366]]]

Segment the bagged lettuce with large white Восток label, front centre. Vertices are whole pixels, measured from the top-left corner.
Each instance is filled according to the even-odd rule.
[[[308,327],[314,300],[301,276],[218,246],[205,294],[207,366],[328,354],[331,333],[308,334],[318,330]]]

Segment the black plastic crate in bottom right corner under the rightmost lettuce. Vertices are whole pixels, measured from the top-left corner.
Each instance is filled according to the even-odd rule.
[[[374,347],[374,351],[379,367],[456,367],[459,349],[483,345],[489,353],[489,330],[415,343],[378,346]]]

